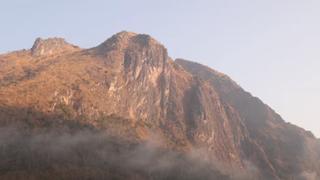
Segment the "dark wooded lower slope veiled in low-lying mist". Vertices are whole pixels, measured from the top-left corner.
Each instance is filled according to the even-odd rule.
[[[230,179],[191,153],[157,139],[132,142],[107,132],[27,133],[0,128],[1,179]]]

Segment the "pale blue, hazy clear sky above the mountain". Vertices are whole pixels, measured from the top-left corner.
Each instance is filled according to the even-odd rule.
[[[320,138],[320,1],[1,0],[0,54],[64,37],[91,48],[122,30],[209,65]]]

